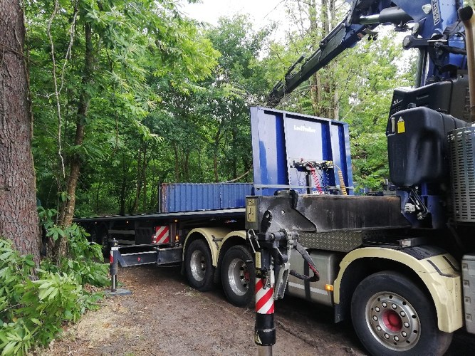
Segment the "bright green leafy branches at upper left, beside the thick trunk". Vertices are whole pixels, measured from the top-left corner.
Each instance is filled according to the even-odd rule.
[[[134,177],[130,171],[140,164],[146,169],[143,163],[152,157],[137,155],[137,149],[155,149],[162,140],[161,132],[145,122],[162,105],[161,85],[180,93],[192,90],[212,73],[219,53],[194,21],[179,14],[174,1],[57,4],[58,11],[51,1],[25,4],[38,197],[44,206],[61,206],[67,164],[76,157],[83,178],[77,214],[113,211],[120,200],[136,209],[140,201],[134,188],[142,195],[150,192],[143,174]],[[86,24],[93,68],[84,64]],[[85,117],[78,117],[78,103],[86,103]],[[82,144],[76,142],[78,124],[85,125]],[[115,184],[103,184],[111,180]]]

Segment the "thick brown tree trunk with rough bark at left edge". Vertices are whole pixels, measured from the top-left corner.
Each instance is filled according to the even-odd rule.
[[[31,116],[19,1],[0,0],[0,236],[39,261]]]

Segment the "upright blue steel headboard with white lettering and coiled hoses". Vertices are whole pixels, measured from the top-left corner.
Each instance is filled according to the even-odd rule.
[[[255,194],[273,195],[278,189],[335,193],[335,186],[340,184],[338,170],[343,173],[345,186],[353,187],[348,124],[251,108],[251,132]],[[334,168],[316,168],[312,174],[302,164],[329,161],[335,164]],[[348,193],[353,194],[353,189]]]

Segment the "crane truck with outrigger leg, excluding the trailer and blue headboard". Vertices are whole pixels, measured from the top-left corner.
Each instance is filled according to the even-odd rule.
[[[395,195],[247,197],[259,355],[271,355],[273,300],[287,293],[332,306],[335,322],[351,319],[372,355],[443,355],[455,330],[475,333],[473,15],[461,1],[355,0],[273,88],[270,105],[380,24],[409,30],[403,46],[419,50],[416,83],[394,90],[387,120]],[[311,182],[330,168],[310,156],[286,160],[289,179]]]

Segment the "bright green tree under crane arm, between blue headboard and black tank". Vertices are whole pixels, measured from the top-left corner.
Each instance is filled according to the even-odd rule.
[[[408,86],[413,73],[400,70],[402,50],[390,36],[360,43],[350,56],[357,58],[352,68],[359,65],[346,77],[351,91],[340,103],[340,115],[350,124],[355,186],[379,190],[389,178],[385,131],[392,91]]]

